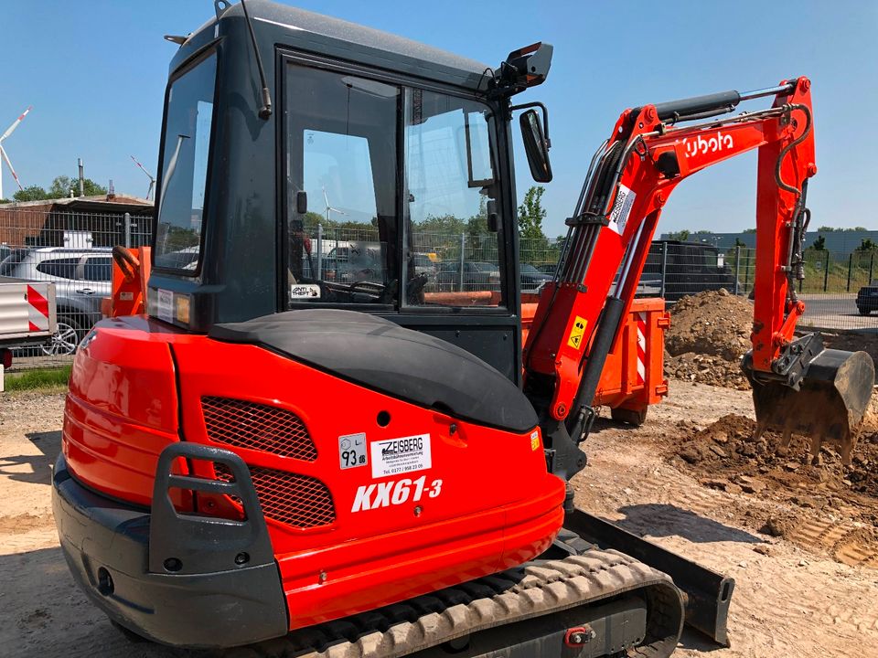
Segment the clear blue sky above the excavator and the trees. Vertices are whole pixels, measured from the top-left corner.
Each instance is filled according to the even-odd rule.
[[[86,175],[144,196],[155,171],[167,63],[186,34],[212,15],[209,0],[2,0],[0,131],[34,110],[5,148],[25,185]],[[878,3],[712,3],[442,0],[412,3],[300,0],[338,16],[497,64],[509,50],[543,40],[555,47],[549,80],[520,96],[550,108],[555,179],[544,205],[550,236],[573,211],[588,160],[626,107],[711,91],[752,90],[787,77],[813,82],[819,174],[809,186],[815,225],[878,228],[878,105],[872,48]],[[765,104],[764,102],[762,103]],[[753,107],[758,106],[758,101]],[[517,153],[522,149],[517,144]],[[518,165],[519,196],[530,186]],[[14,181],[4,172],[11,196]],[[685,181],[659,231],[740,230],[754,225],[755,155]]]

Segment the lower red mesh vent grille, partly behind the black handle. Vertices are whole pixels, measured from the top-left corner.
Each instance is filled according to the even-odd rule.
[[[227,466],[214,463],[213,468],[217,480],[231,482],[233,479]],[[336,508],[332,494],[327,485],[316,478],[260,466],[251,466],[250,476],[266,518],[297,528],[335,523]],[[241,504],[237,496],[231,498]]]

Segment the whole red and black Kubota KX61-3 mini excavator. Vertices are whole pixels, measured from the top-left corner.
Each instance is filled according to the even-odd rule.
[[[551,47],[491,69],[269,2],[216,14],[168,37],[150,260],[114,251],[73,366],[53,501],[80,587],[126,632],[266,655],[667,656],[684,619],[726,643],[733,581],[567,483],[661,207],[754,149],[760,422],[814,430],[806,388],[828,436],[862,415],[871,360],[793,335],[808,80],[623,112],[522,347],[513,112],[551,167],[545,108],[512,99]],[[424,247],[470,217],[496,239]]]

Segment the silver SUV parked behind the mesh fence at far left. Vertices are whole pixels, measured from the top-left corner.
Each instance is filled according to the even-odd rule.
[[[47,355],[73,354],[101,319],[101,298],[111,294],[111,249],[17,249],[0,266],[0,281],[4,277],[55,284],[58,332],[42,350]]]

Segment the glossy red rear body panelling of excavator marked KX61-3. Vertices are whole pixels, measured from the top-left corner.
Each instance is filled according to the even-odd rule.
[[[291,628],[520,564],[548,547],[562,525],[565,486],[546,471],[539,430],[478,426],[260,347],[184,334],[143,317],[104,320],[94,331],[77,355],[65,414],[65,454],[83,483],[149,504],[158,453],[182,438],[234,451],[252,470],[293,472],[326,485],[334,507],[330,523],[302,528],[265,514]],[[205,396],[293,412],[315,444],[316,459],[210,440]],[[380,411],[390,414],[386,426]],[[359,433],[369,445],[429,434],[431,466],[384,477],[373,477],[371,459],[341,469],[339,438]],[[209,462],[193,462],[191,469],[216,477]],[[509,473],[517,486],[509,486]],[[414,481],[421,477],[419,495]],[[401,480],[409,484],[397,494]],[[382,499],[376,490],[367,497],[373,504],[357,509],[360,490],[382,483],[394,483],[393,495]],[[230,499],[217,502],[199,495],[198,512],[234,509]]]

